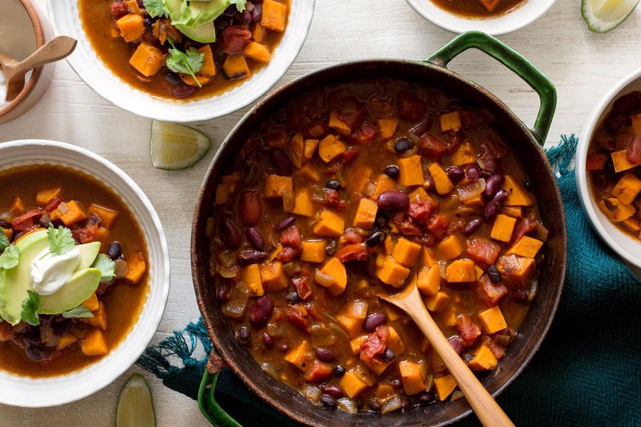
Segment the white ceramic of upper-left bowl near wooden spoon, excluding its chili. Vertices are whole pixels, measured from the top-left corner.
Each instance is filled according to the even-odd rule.
[[[301,51],[314,13],[315,0],[292,1],[289,21],[281,43],[269,64],[244,83],[221,95],[203,100],[179,102],[155,97],[120,80],[96,56],[83,31],[78,0],[48,0],[53,32],[78,40],[75,52],[67,58],[71,67],[95,90],[123,110],[163,122],[199,122],[221,117],[246,107],[264,95],[289,69]]]

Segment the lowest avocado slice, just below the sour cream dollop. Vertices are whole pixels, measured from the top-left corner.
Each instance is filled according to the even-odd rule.
[[[57,315],[78,307],[98,289],[102,275],[103,273],[98,268],[85,268],[76,271],[62,288],[51,295],[40,297],[42,302],[40,314]]]

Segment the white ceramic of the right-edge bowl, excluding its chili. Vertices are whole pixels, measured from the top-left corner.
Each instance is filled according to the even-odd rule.
[[[595,231],[621,258],[641,269],[641,242],[617,228],[599,209],[590,189],[588,189],[588,173],[585,171],[585,159],[588,157],[588,146],[594,131],[608,112],[612,110],[615,100],[634,90],[641,90],[641,70],[635,71],[617,83],[590,112],[588,120],[583,125],[576,150],[575,175],[583,210],[585,214],[588,214]]]

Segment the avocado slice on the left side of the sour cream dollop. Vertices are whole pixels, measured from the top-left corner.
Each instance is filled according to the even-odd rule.
[[[22,302],[28,297],[31,261],[49,246],[46,230],[36,231],[16,243],[20,262],[11,270],[0,270],[0,317],[11,325],[20,322]]]

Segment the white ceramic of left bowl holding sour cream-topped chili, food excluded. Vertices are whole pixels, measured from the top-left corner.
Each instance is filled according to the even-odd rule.
[[[165,312],[170,259],[160,219],[139,186],[97,154],[62,142],[25,139],[0,144],[0,170],[27,164],[58,164],[94,176],[129,206],[147,240],[150,290],[132,331],[107,356],[63,376],[29,379],[0,371],[0,404],[41,407],[67,404],[95,393],[123,374],[145,351]]]

